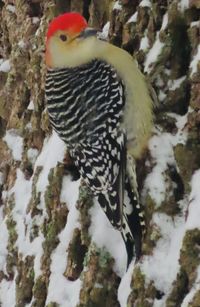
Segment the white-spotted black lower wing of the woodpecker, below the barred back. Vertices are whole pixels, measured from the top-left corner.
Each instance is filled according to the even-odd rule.
[[[119,134],[119,133],[118,133]],[[125,178],[124,134],[108,134],[96,145],[78,146],[71,152],[81,176],[98,199],[114,227],[122,227]]]

